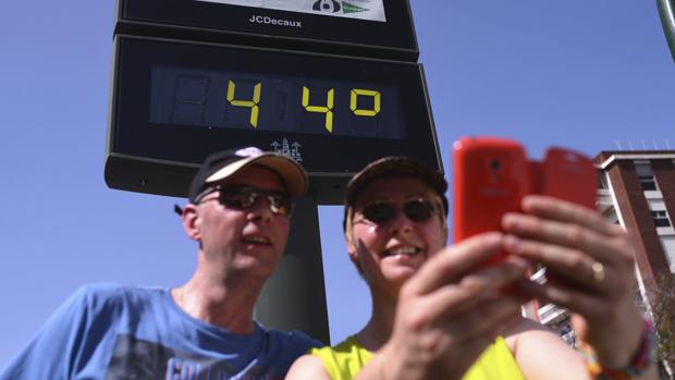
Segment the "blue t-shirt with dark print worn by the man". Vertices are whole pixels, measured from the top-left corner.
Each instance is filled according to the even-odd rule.
[[[9,379],[282,379],[320,342],[302,332],[235,334],[184,312],[168,289],[88,285],[2,372]]]

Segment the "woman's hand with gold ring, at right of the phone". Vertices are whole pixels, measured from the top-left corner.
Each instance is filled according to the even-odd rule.
[[[574,312],[579,339],[605,368],[627,365],[642,321],[635,304],[633,244],[626,232],[592,210],[543,196],[524,198],[525,213],[503,218],[504,249],[547,267],[545,284],[523,290]]]

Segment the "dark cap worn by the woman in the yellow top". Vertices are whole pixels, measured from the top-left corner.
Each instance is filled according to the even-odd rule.
[[[419,179],[431,187],[443,201],[443,211],[447,216],[447,182],[443,175],[431,169],[426,163],[414,158],[403,156],[391,156],[370,162],[347,183],[347,192],[344,201],[343,228],[346,226],[347,211],[349,206],[358,198],[360,193],[375,180],[388,176],[412,176]]]

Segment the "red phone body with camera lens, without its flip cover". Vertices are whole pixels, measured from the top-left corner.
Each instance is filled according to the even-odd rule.
[[[518,211],[530,191],[525,148],[511,139],[464,137],[453,145],[453,241],[502,230],[502,216]]]

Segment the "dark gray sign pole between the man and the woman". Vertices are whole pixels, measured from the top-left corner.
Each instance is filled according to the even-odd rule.
[[[284,257],[262,289],[254,316],[268,328],[300,330],[330,344],[316,195],[294,204]]]

